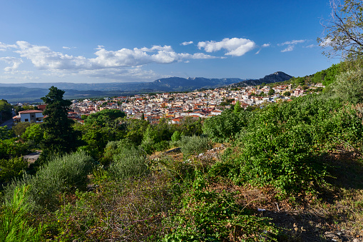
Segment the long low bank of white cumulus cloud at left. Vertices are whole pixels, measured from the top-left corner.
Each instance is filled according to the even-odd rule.
[[[176,53],[171,46],[153,46],[151,48],[120,49],[108,51],[98,46],[94,53],[96,58],[86,59],[84,56],[71,56],[51,51],[47,46],[36,46],[26,41],[17,41],[21,57],[29,59],[39,69],[48,70],[93,70],[109,69],[126,66],[143,66],[145,64],[170,64],[185,59],[215,59],[218,57],[203,53]]]

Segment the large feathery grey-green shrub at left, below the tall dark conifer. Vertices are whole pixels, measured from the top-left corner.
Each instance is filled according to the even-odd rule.
[[[16,187],[25,184],[30,185],[29,203],[32,208],[56,209],[58,194],[74,188],[85,188],[93,163],[93,158],[85,153],[71,153],[53,158],[35,176],[24,176],[6,186],[4,199],[10,201]]]

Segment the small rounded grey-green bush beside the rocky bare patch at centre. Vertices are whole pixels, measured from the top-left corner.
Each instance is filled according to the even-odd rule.
[[[183,136],[178,144],[185,157],[212,148],[212,142],[205,136]]]

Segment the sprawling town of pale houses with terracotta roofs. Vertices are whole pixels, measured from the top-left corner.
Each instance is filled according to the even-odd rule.
[[[83,123],[85,116],[103,109],[119,109],[131,119],[145,119],[150,123],[158,123],[161,118],[170,123],[180,123],[185,116],[204,119],[217,116],[231,105],[240,104],[242,109],[262,106],[264,103],[289,101],[291,97],[303,96],[316,91],[322,84],[310,86],[309,89],[296,88],[292,85],[247,86],[244,88],[219,88],[192,91],[188,93],[139,94],[134,96],[118,96],[94,101],[91,99],[73,100],[68,117]],[[250,107],[250,108],[249,108]],[[14,121],[41,123],[41,112],[45,105],[39,105],[38,110],[20,111],[14,116]]]

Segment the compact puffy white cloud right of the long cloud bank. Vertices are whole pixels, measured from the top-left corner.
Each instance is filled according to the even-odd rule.
[[[199,49],[204,49],[206,52],[220,51],[221,49],[226,49],[228,52],[225,55],[229,56],[242,56],[248,51],[255,49],[255,42],[250,39],[238,39],[225,38],[220,42],[216,41],[203,41],[198,43]]]

